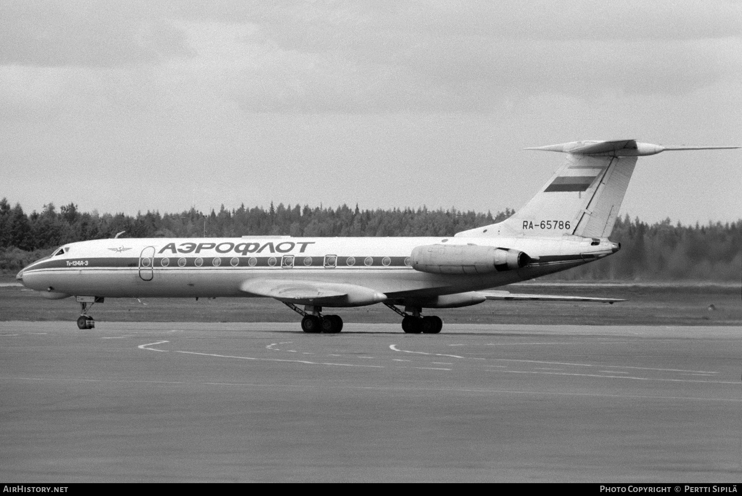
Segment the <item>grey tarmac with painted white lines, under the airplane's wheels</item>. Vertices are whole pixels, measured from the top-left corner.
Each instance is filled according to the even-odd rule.
[[[0,323],[0,480],[742,480],[742,327]]]

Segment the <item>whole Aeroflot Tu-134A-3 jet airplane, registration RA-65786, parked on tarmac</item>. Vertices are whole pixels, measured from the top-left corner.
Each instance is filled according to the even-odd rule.
[[[105,298],[270,297],[300,314],[307,333],[341,331],[341,317],[324,314],[324,308],[382,303],[413,334],[441,331],[439,317],[421,315],[427,308],[487,300],[619,302],[486,290],[619,251],[608,237],[637,157],[723,148],[740,147],[623,139],[527,148],[566,153],[566,159],[508,219],[450,237],[95,239],[61,246],[16,279],[50,300],[75,296],[80,329],[95,327],[88,311]]]

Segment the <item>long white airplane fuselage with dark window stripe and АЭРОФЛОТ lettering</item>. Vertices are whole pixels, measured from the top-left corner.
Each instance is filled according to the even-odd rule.
[[[421,245],[522,251],[525,267],[489,274],[430,274],[410,263]],[[478,291],[581,265],[617,251],[606,238],[241,237],[96,239],[64,245],[18,279],[47,297],[255,297],[249,280],[362,285],[387,298]],[[367,303],[365,303],[367,304]]]

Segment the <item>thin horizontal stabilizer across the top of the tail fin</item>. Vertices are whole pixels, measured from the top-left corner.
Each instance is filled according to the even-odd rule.
[[[640,143],[635,139],[620,139],[616,141],[576,141],[559,143],[558,145],[539,146],[526,148],[526,150],[559,151],[562,153],[573,153],[575,155],[599,155],[599,156],[645,156],[655,155],[662,151],[680,150],[723,150],[728,148],[740,148],[739,146],[662,146],[652,143]]]

